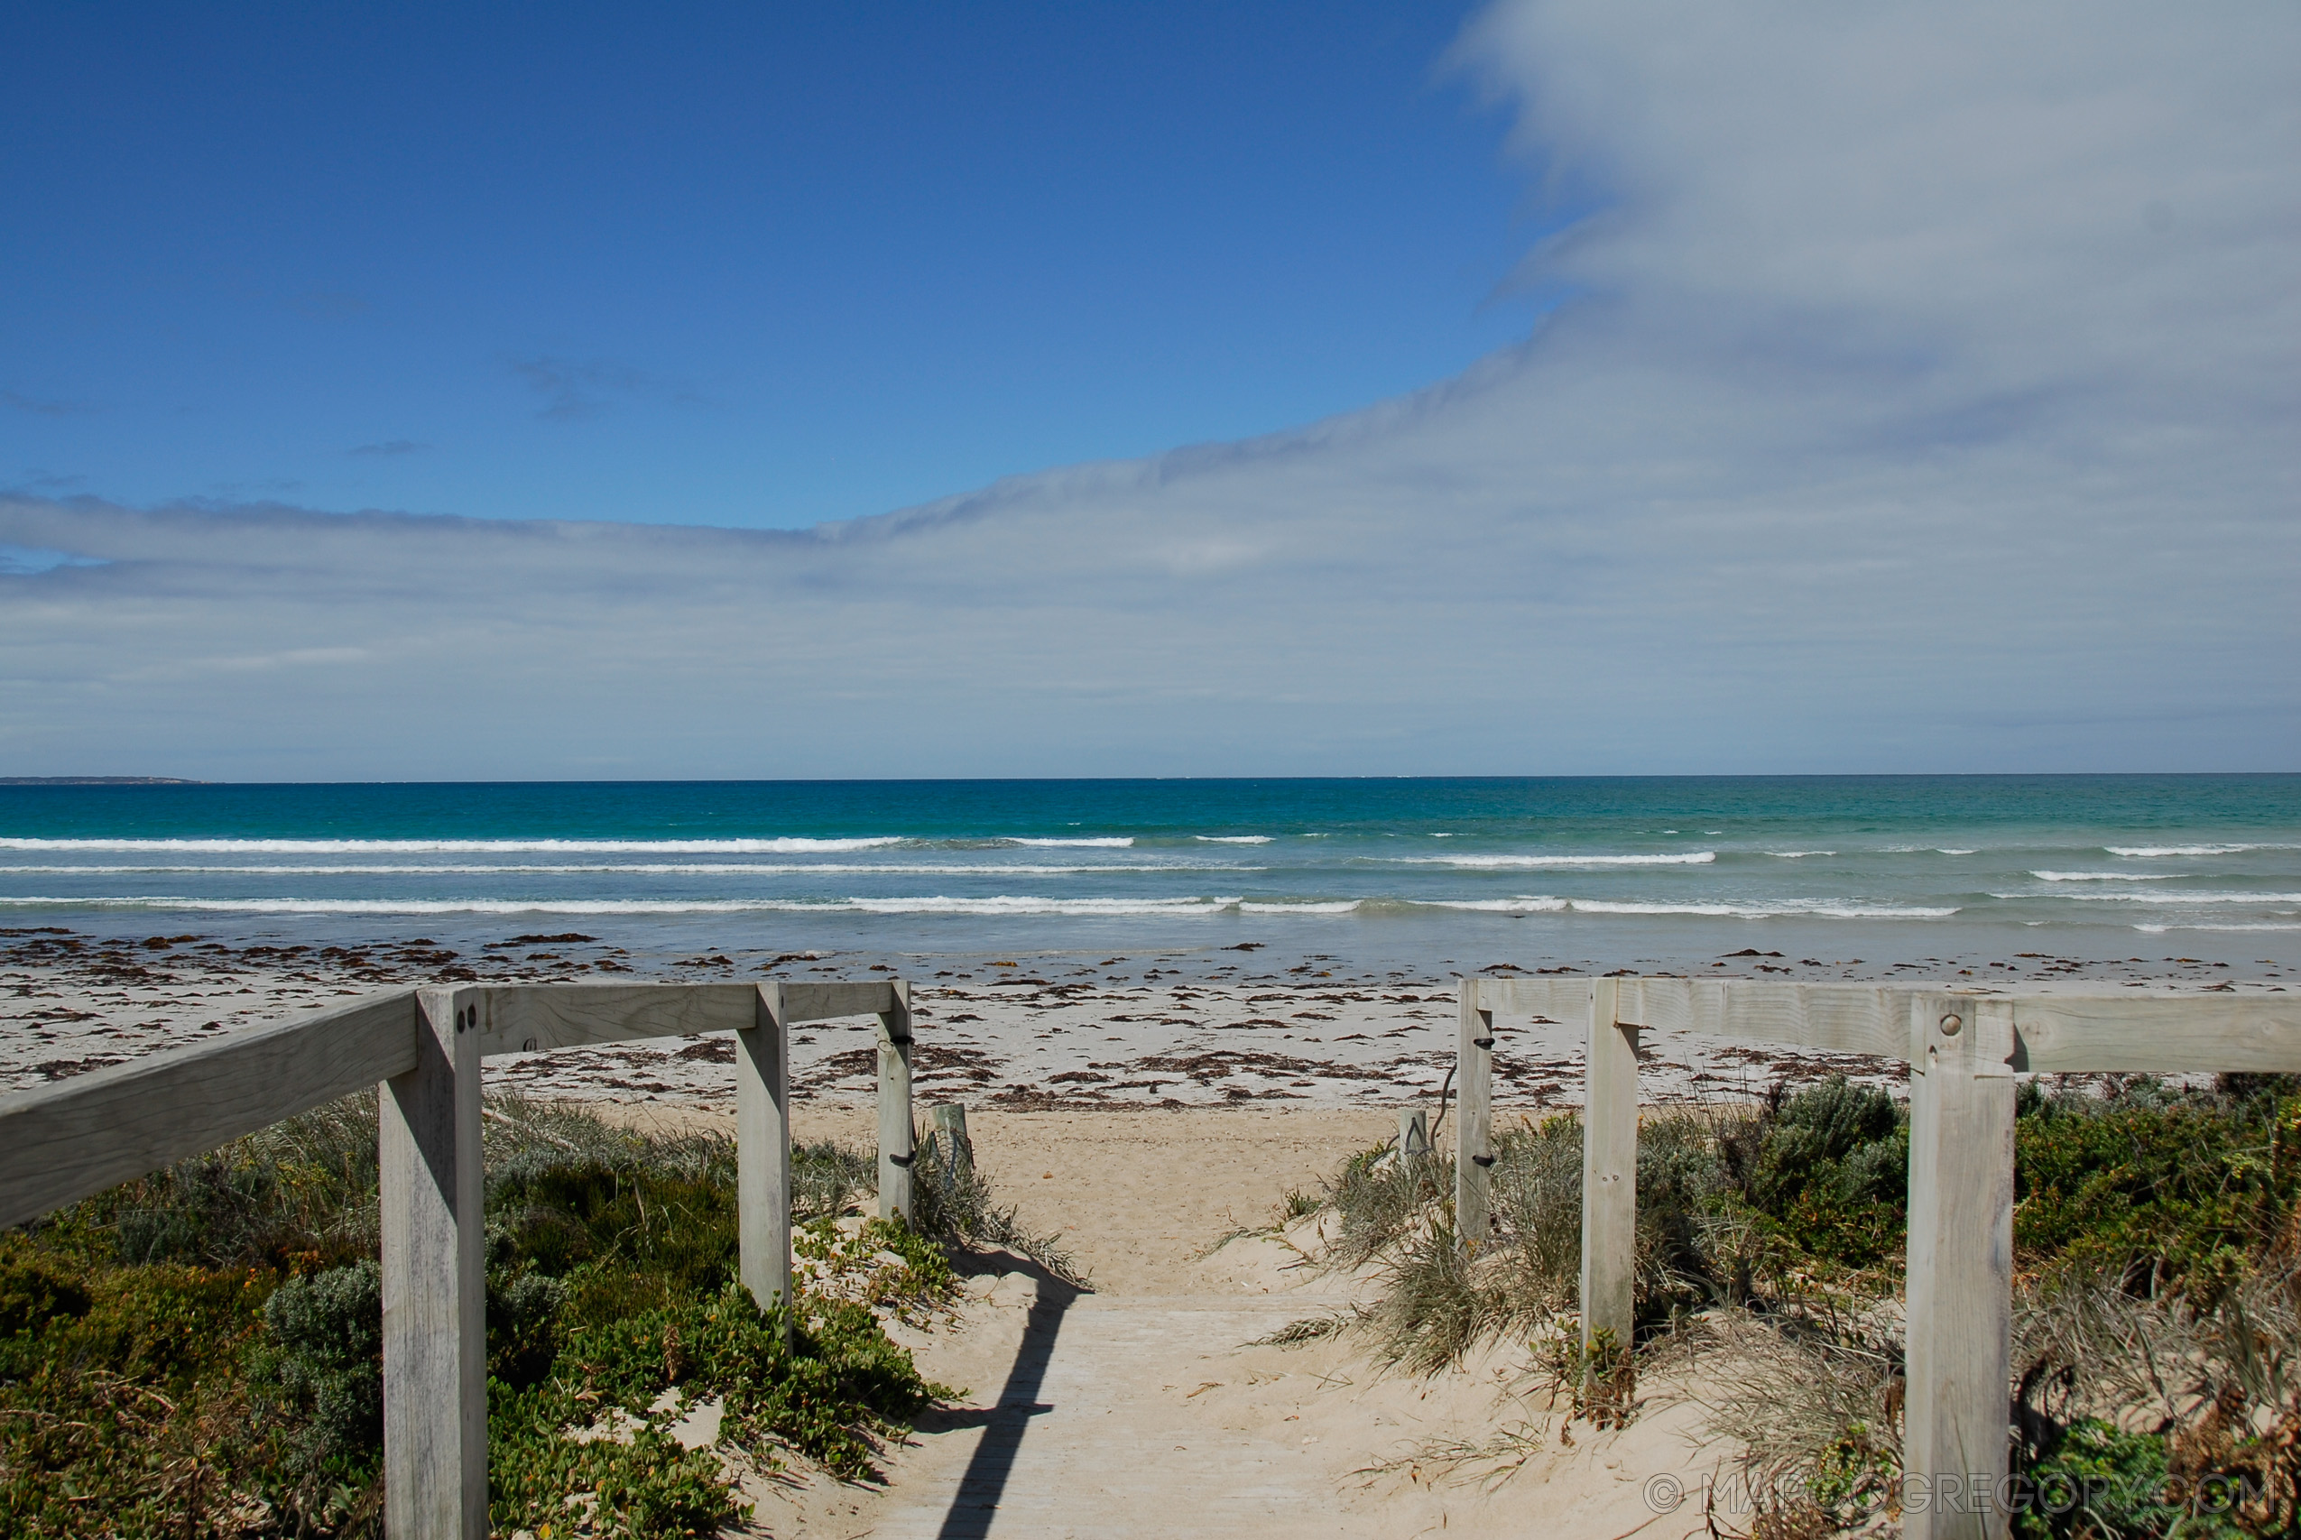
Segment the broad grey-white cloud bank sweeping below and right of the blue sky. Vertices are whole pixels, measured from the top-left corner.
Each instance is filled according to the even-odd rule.
[[[2301,12],[1519,5],[1459,64],[1604,193],[1463,380],[805,534],[7,502],[106,564],[0,575],[0,767],[2301,760]]]

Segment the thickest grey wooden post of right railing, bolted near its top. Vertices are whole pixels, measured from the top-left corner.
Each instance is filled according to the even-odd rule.
[[[1910,1001],[1908,1540],[2004,1540],[2013,1001]]]

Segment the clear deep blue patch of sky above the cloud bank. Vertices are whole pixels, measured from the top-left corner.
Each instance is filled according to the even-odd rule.
[[[1523,338],[1461,5],[9,7],[0,486],[796,527]]]

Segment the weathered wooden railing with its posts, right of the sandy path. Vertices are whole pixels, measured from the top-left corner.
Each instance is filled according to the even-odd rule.
[[[1631,1340],[1638,1047],[1790,1043],[1910,1066],[1905,1540],[2002,1538],[2013,1356],[2013,1077],[2301,1070],[2301,999],[2027,994],[1740,978],[1463,978],[1454,1218],[1491,1229],[1496,1017],[1588,1022],[1583,1347]]]

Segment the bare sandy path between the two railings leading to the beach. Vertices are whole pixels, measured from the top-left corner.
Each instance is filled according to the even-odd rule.
[[[867,1135],[856,1112],[801,1110],[794,1123],[801,1137]],[[1629,1430],[1576,1425],[1558,1441],[1523,1344],[1496,1344],[1431,1379],[1388,1374],[1348,1340],[1249,1347],[1346,1308],[1367,1284],[1302,1266],[1302,1227],[1291,1241],[1208,1245],[1268,1222],[1286,1188],[1316,1186],[1394,1116],[978,1112],[971,1126],[999,1192],[1029,1227],[1058,1232],[1095,1291],[992,1259],[953,1319],[895,1326],[920,1370],[960,1397],[886,1450],[884,1487],[750,1485],[759,1508],[746,1533],[1613,1540],[1657,1517],[1645,1480],[1677,1473],[1694,1489],[1719,1457],[1687,1436],[1694,1409],[1659,1386]],[[1514,1455],[1507,1480],[1450,1480],[1443,1459],[1424,1457],[1503,1427],[1549,1430]],[[1698,1526],[1696,1510],[1643,1533],[1680,1540]]]

